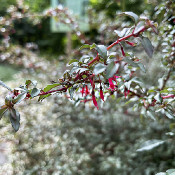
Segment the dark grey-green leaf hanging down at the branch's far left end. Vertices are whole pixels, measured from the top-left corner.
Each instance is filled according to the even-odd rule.
[[[20,114],[14,108],[10,109],[10,122],[15,132],[17,132],[20,127]]]

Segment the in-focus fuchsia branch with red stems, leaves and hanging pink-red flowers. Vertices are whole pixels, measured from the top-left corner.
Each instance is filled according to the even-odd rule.
[[[15,131],[18,131],[20,115],[14,106],[25,99],[39,97],[38,100],[42,101],[55,93],[68,93],[70,99],[80,102],[92,101],[94,106],[99,109],[98,98],[105,101],[108,96],[116,93],[128,100],[135,98],[138,108],[140,110],[144,108],[145,114],[150,117],[153,116],[154,112],[151,107],[157,106],[158,111],[163,111],[169,118],[173,118],[173,112],[171,112],[164,100],[174,98],[175,95],[168,94],[164,96],[161,95],[161,91],[158,89],[153,92],[144,89],[141,82],[134,75],[138,69],[145,72],[145,66],[142,64],[141,59],[124,50],[125,44],[135,47],[137,44],[134,39],[137,38],[141,41],[141,45],[148,57],[152,57],[154,47],[150,40],[143,36],[143,33],[147,31],[158,34],[156,24],[147,18],[139,18],[132,12],[124,12],[122,15],[133,18],[135,25],[125,28],[123,36],[107,47],[104,45],[84,44],[80,50],[88,49],[90,54],[80,59],[72,59],[69,62],[71,69],[66,71],[58,82],[49,84],[44,89],[39,89],[35,81],[27,80],[23,86],[14,90],[0,82],[2,86],[10,91],[5,98],[5,104],[0,108],[0,117],[2,118],[4,113],[9,111],[12,126]],[[112,49],[113,51],[116,50],[116,45],[119,45],[120,50],[112,52]],[[96,56],[92,57],[94,52]],[[137,87],[140,87],[140,90],[137,90]],[[75,99],[74,93],[78,93],[79,88],[81,89],[81,98]],[[150,97],[151,93],[153,95]]]

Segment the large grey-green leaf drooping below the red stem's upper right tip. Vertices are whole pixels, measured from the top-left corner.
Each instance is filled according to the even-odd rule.
[[[154,47],[151,44],[151,41],[147,37],[141,37],[141,43],[142,43],[142,46],[143,46],[145,52],[147,53],[147,55],[150,58],[152,58],[153,52],[154,52]]]

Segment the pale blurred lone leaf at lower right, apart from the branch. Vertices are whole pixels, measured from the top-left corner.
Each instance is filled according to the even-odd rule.
[[[156,147],[158,147],[159,145],[162,145],[163,143],[165,143],[165,141],[162,140],[148,140],[145,143],[143,143],[141,145],[141,147],[139,149],[137,149],[138,152],[142,152],[142,151],[149,151],[152,150]]]

